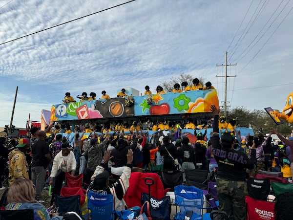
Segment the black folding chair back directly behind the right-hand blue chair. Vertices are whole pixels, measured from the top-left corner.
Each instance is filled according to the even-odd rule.
[[[208,171],[185,169],[186,186],[195,186],[202,190],[208,190]]]

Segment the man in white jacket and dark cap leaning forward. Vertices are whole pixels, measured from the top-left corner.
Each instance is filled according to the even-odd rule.
[[[68,172],[71,174],[71,176],[75,175],[76,160],[73,152],[71,151],[72,147],[69,145],[68,142],[65,142],[61,145],[61,149],[61,152],[59,152],[54,158],[50,175],[50,186],[53,185],[55,178],[51,205],[54,202],[55,195],[60,195],[62,183],[65,180],[65,173]]]

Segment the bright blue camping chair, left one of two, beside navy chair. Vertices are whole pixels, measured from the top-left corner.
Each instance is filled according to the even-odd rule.
[[[92,220],[113,220],[114,219],[114,198],[113,195],[102,195],[88,191],[87,207],[90,210]]]

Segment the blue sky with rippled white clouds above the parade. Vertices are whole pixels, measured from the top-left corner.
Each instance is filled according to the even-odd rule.
[[[0,0],[0,44],[123,2]],[[181,72],[212,82],[223,101],[224,79],[215,76],[222,75],[224,69],[216,65],[225,62],[223,55],[250,4],[228,49],[228,57],[235,51],[229,63],[237,62],[236,69],[228,68],[228,75],[237,75],[228,80],[228,101],[231,107],[282,110],[293,84],[293,11],[282,22],[293,7],[292,1],[287,2],[136,0],[2,44],[0,127],[10,122],[17,86],[13,120],[17,127],[25,127],[29,113],[31,120],[39,121],[41,110],[61,103],[67,91],[74,97],[83,91],[96,92],[100,97],[106,90],[114,97],[120,88],[143,92],[148,85],[154,92],[160,82]],[[236,44],[242,33],[245,37]]]

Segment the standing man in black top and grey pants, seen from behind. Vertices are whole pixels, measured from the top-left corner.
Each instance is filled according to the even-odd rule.
[[[45,141],[47,137],[46,132],[39,131],[38,132],[38,140],[32,146],[32,181],[36,185],[36,200],[39,202],[43,202],[42,197],[42,189],[45,184],[45,176],[46,169],[51,163],[51,155],[49,151],[49,146]]]

